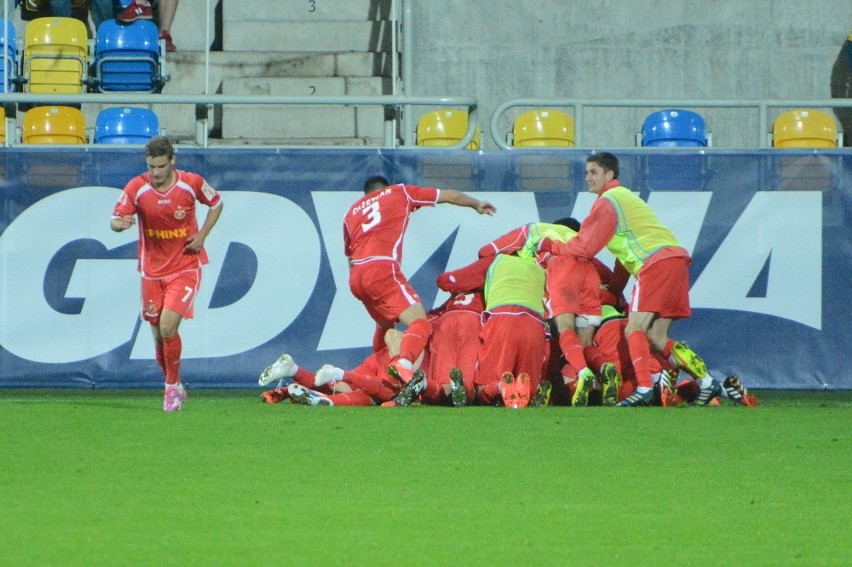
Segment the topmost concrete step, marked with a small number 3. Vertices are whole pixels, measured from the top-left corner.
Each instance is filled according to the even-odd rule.
[[[390,18],[391,0],[242,0],[224,2],[223,22],[376,21]]]

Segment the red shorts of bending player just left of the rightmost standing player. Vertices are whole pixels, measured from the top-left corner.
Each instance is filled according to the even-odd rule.
[[[547,263],[547,296],[554,315],[600,317],[600,288],[600,276],[588,260],[554,256]]]

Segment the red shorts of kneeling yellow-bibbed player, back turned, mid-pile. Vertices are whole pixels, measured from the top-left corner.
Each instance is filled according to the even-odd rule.
[[[523,307],[498,309],[482,325],[482,347],[474,382],[485,385],[499,380],[503,372],[515,376],[526,372],[530,388],[535,391],[547,358],[544,320]]]

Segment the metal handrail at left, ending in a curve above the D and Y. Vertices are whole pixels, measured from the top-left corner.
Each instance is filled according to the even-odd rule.
[[[196,143],[208,147],[207,128],[202,127],[207,120],[208,107],[223,104],[234,105],[306,105],[306,106],[381,106],[398,110],[406,105],[447,107],[467,107],[468,125],[464,138],[449,149],[462,149],[467,146],[476,133],[478,100],[474,97],[408,97],[408,96],[269,96],[269,95],[169,95],[147,93],[90,93],[90,94],[33,94],[0,93],[0,104],[192,104],[196,107],[199,122],[196,128]],[[8,116],[7,116],[8,118]],[[12,136],[6,136],[6,145],[14,145]],[[385,129],[384,147],[398,147],[397,137]]]

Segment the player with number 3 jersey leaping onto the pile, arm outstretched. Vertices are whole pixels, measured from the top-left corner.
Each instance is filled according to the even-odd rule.
[[[403,275],[402,241],[411,213],[420,207],[451,203],[469,207],[479,214],[493,215],[497,209],[488,201],[461,191],[397,183],[381,176],[364,184],[364,196],[343,219],[344,252],[349,258],[349,288],[376,322],[373,350],[382,346],[385,331],[401,322],[407,328],[392,375],[407,383],[414,361],[426,348],[432,326],[417,292]]]

